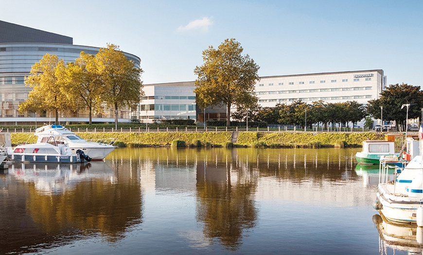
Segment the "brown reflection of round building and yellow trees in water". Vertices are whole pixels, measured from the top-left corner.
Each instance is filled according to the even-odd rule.
[[[142,193],[139,177],[131,176],[138,167],[119,166],[126,170],[105,162],[13,164],[5,179],[17,181],[2,188],[15,203],[0,207],[7,219],[0,229],[9,230],[0,233],[0,253],[36,252],[84,236],[122,239],[142,220]]]

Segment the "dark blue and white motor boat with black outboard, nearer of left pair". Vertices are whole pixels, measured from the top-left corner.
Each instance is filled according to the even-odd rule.
[[[45,138],[45,139],[44,139]],[[18,163],[82,163],[91,161],[82,150],[72,154],[66,142],[57,141],[53,136],[44,137],[43,142],[16,146],[8,155]]]

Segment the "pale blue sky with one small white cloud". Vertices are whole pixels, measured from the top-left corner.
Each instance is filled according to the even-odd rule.
[[[421,0],[2,0],[0,20],[116,44],[143,84],[194,81],[202,51],[235,38],[260,76],[382,69],[423,88],[422,13]]]

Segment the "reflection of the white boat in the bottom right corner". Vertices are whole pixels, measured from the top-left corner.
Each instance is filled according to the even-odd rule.
[[[388,254],[389,250],[406,251],[409,254],[423,253],[423,228],[416,225],[396,224],[380,215],[373,215],[375,227],[379,232],[379,252]]]

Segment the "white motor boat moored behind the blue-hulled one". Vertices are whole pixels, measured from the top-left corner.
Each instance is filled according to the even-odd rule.
[[[45,125],[38,127],[35,130],[35,135],[38,136],[37,143],[42,143],[50,136],[54,136],[56,141],[65,142],[71,148],[72,155],[76,155],[76,151],[82,150],[86,155],[89,155],[92,161],[103,160],[116,147],[113,144],[117,139],[86,141],[77,136],[68,128],[60,125]]]

